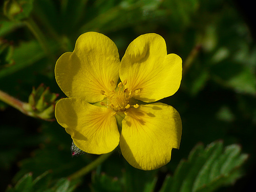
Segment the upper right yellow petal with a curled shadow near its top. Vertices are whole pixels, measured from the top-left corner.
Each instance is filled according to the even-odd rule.
[[[155,33],[144,34],[131,42],[120,66],[120,79],[134,97],[152,102],[173,95],[180,87],[182,60],[168,54],[164,39]]]

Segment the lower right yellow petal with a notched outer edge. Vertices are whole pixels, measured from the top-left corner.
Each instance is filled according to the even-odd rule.
[[[181,132],[180,115],[170,105],[155,103],[131,108],[122,121],[122,155],[135,168],[159,168],[170,161],[172,148],[179,148]]]

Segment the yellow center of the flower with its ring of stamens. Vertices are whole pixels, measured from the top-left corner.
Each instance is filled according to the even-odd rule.
[[[106,95],[105,92],[102,90],[101,94],[105,95],[107,98],[107,104],[101,102],[101,105],[106,105],[108,108],[113,110],[112,115],[116,115],[117,112],[123,112],[126,115],[126,110],[129,109],[131,106],[134,108],[138,108],[138,104],[131,105],[130,99],[134,96],[134,94],[138,94],[140,90],[136,90],[134,93],[129,91],[127,88],[124,89],[127,80],[124,82],[120,82],[117,86],[117,89],[110,92],[109,95]]]

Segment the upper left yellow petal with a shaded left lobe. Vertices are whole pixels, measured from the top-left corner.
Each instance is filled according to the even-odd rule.
[[[93,103],[103,100],[101,90],[108,93],[115,89],[119,66],[114,42],[103,34],[88,32],[78,37],[73,52],[59,57],[55,77],[68,97],[80,97]]]

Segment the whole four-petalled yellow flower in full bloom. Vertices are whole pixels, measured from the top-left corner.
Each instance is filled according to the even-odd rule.
[[[68,96],[57,102],[56,119],[84,152],[109,153],[119,144],[132,166],[159,168],[179,148],[182,125],[172,106],[153,102],[179,89],[181,73],[181,58],[167,55],[158,34],[136,38],[120,62],[110,38],[84,33],[56,62],[56,81]]]

